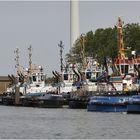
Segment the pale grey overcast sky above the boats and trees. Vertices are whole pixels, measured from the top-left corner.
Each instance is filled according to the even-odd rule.
[[[80,34],[113,27],[118,16],[125,24],[140,23],[140,1],[80,1]],[[60,71],[58,43],[64,54],[70,49],[70,1],[0,1],[0,75],[15,74],[15,53],[28,67],[28,47],[32,63],[42,65],[48,76]]]

